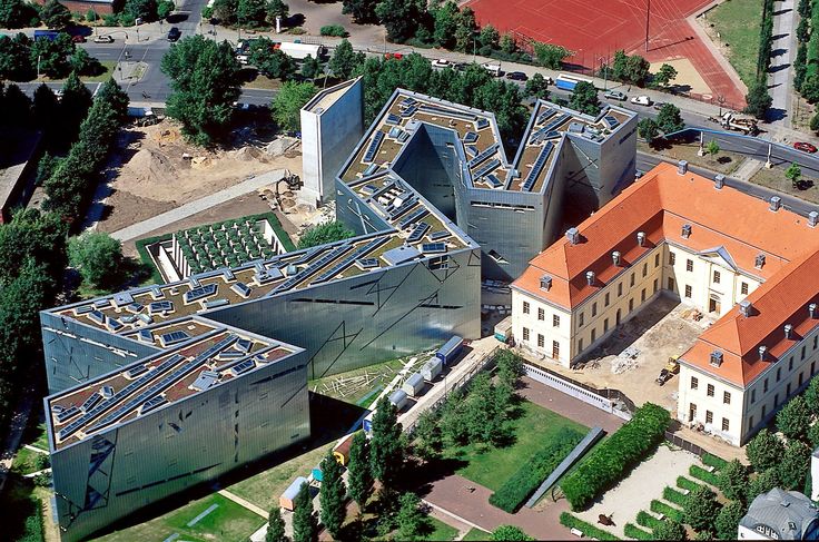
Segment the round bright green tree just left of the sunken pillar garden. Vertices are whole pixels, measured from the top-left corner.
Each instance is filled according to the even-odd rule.
[[[111,284],[122,260],[122,245],[108,234],[87,231],[69,239],[68,260],[88,283]]]

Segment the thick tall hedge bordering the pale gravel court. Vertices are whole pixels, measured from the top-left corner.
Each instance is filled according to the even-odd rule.
[[[669,411],[652,403],[594,449],[561,483],[572,510],[582,510],[613,487],[662,442],[671,422]]]

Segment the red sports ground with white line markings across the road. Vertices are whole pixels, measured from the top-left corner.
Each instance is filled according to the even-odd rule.
[[[599,68],[615,50],[639,52],[650,61],[688,58],[713,96],[743,105],[737,88],[685,18],[711,0],[652,0],[645,51],[647,0],[472,0],[480,24],[515,32],[575,52],[571,62]]]

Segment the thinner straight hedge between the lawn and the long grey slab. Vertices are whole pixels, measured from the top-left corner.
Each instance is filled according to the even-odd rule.
[[[550,445],[532,455],[490,496],[490,503],[514,514],[582,440],[578,431],[563,427]]]

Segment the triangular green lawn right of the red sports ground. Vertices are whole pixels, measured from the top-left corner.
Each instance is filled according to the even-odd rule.
[[[731,0],[708,12],[707,21],[728,43],[728,61],[749,87],[757,77],[759,27],[762,20],[762,0]]]

